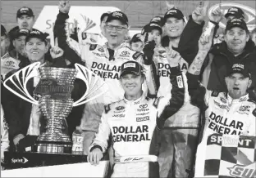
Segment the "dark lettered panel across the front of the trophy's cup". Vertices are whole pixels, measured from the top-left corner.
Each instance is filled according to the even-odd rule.
[[[51,96],[54,100],[66,100],[74,86],[67,82],[59,82],[56,78],[41,78],[34,90],[35,96]]]

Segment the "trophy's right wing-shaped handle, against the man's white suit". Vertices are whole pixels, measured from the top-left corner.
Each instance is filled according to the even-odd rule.
[[[90,100],[94,100],[95,98],[97,98],[98,96],[103,95],[103,93],[105,93],[107,91],[107,87],[103,88],[103,91],[99,92],[98,95],[93,96],[91,98],[89,98],[89,100],[85,100],[88,96],[90,96],[92,93],[98,91],[99,88],[103,87],[103,85],[105,85],[105,83],[103,82],[102,85],[100,85],[99,87],[95,88],[94,91],[90,91],[89,92],[89,87],[91,87],[89,84],[89,82],[91,81],[91,78],[95,75],[94,73],[92,73],[92,71],[90,71],[89,69],[87,69],[85,66],[83,65],[79,65],[79,64],[75,64],[75,69],[77,70],[77,74],[76,74],[76,78],[80,78],[81,80],[83,80],[86,84],[86,91],[84,96],[82,96],[79,100],[76,100],[73,103],[73,107],[78,106],[78,105],[83,105],[87,102],[89,102]],[[87,72],[90,73],[90,75],[87,75]],[[95,78],[97,78],[98,76],[94,76]],[[99,77],[98,77],[99,78]]]

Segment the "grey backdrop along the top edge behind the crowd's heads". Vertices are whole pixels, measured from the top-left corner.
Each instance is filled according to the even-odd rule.
[[[180,8],[184,12],[185,16],[189,16],[190,13],[198,6],[199,1],[180,1],[172,0],[176,7]],[[239,6],[245,11],[245,18],[248,24],[250,24],[249,29],[255,26],[255,8],[256,1],[227,1],[227,0],[213,0],[210,1],[209,10],[216,8],[216,4],[222,2],[223,11],[231,6]],[[2,14],[1,22],[5,24],[7,30],[11,29],[16,25],[16,11],[22,6],[31,7],[34,11],[35,17],[38,18],[40,12],[43,10],[44,6],[57,6],[57,1],[10,1],[2,0]],[[149,23],[149,20],[153,16],[163,16],[167,11],[167,5],[165,1],[72,1],[73,6],[93,6],[93,7],[117,7],[124,11],[130,21],[132,29],[140,29],[144,24]],[[43,16],[48,16],[49,20],[53,17],[52,11],[47,11]],[[54,18],[56,18],[54,16]],[[43,21],[46,23],[46,21]],[[96,21],[96,23],[98,23]],[[225,20],[223,20],[221,26]],[[51,24],[51,23],[49,23]],[[46,26],[49,24],[45,24]]]

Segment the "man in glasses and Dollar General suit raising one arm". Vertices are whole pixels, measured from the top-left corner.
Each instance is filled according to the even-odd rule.
[[[107,42],[102,46],[83,41],[78,43],[69,38],[66,33],[65,22],[69,18],[70,8],[71,2],[69,1],[59,3],[60,12],[54,26],[54,35],[58,39],[59,47],[65,51],[64,55],[66,59],[70,59],[71,64],[80,63],[85,65],[93,73],[103,78],[103,82],[108,87],[103,96],[86,103],[81,118],[80,126],[85,134],[84,154],[88,154],[89,145],[94,139],[95,132],[98,132],[98,124],[104,111],[104,105],[121,100],[124,96],[124,90],[119,83],[121,64],[128,60],[136,60],[141,64],[143,59],[142,53],[130,50],[129,43],[124,42],[128,33],[126,14],[121,11],[113,11],[107,16],[105,25]],[[151,73],[150,65],[148,66],[149,70],[147,71]],[[146,81],[153,80],[150,76],[147,76]],[[155,87],[152,88],[154,90]],[[99,92],[97,91],[97,93]],[[93,95],[89,97],[93,97]]]

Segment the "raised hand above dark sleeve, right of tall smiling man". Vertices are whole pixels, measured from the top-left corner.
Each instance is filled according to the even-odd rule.
[[[197,24],[202,24],[204,17],[207,15],[209,1],[200,2],[199,7],[196,7],[192,12],[192,19]]]

